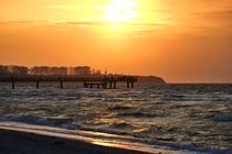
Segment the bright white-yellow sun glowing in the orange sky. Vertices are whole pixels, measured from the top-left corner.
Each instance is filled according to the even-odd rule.
[[[137,16],[137,4],[133,0],[112,0],[106,7],[106,21],[129,22]]]

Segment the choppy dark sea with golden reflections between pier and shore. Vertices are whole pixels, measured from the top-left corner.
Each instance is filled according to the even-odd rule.
[[[232,85],[1,84],[0,121],[94,132],[88,138],[171,153],[232,154]]]

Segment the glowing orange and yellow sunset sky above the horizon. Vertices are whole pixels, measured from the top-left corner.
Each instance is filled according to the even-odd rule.
[[[0,0],[0,64],[232,82],[232,0]]]

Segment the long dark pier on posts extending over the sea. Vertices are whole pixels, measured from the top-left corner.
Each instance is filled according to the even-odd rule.
[[[35,82],[36,89],[40,82],[60,82],[60,88],[64,88],[64,82],[83,82],[84,88],[116,89],[118,82],[125,82],[127,88],[134,88],[137,77],[134,76],[8,76],[1,77],[0,82],[11,82],[12,89],[15,89],[17,82]]]

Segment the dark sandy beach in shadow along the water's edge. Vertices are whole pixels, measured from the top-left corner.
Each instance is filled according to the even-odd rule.
[[[97,145],[55,134],[0,127],[0,154],[148,154],[124,147]]]

